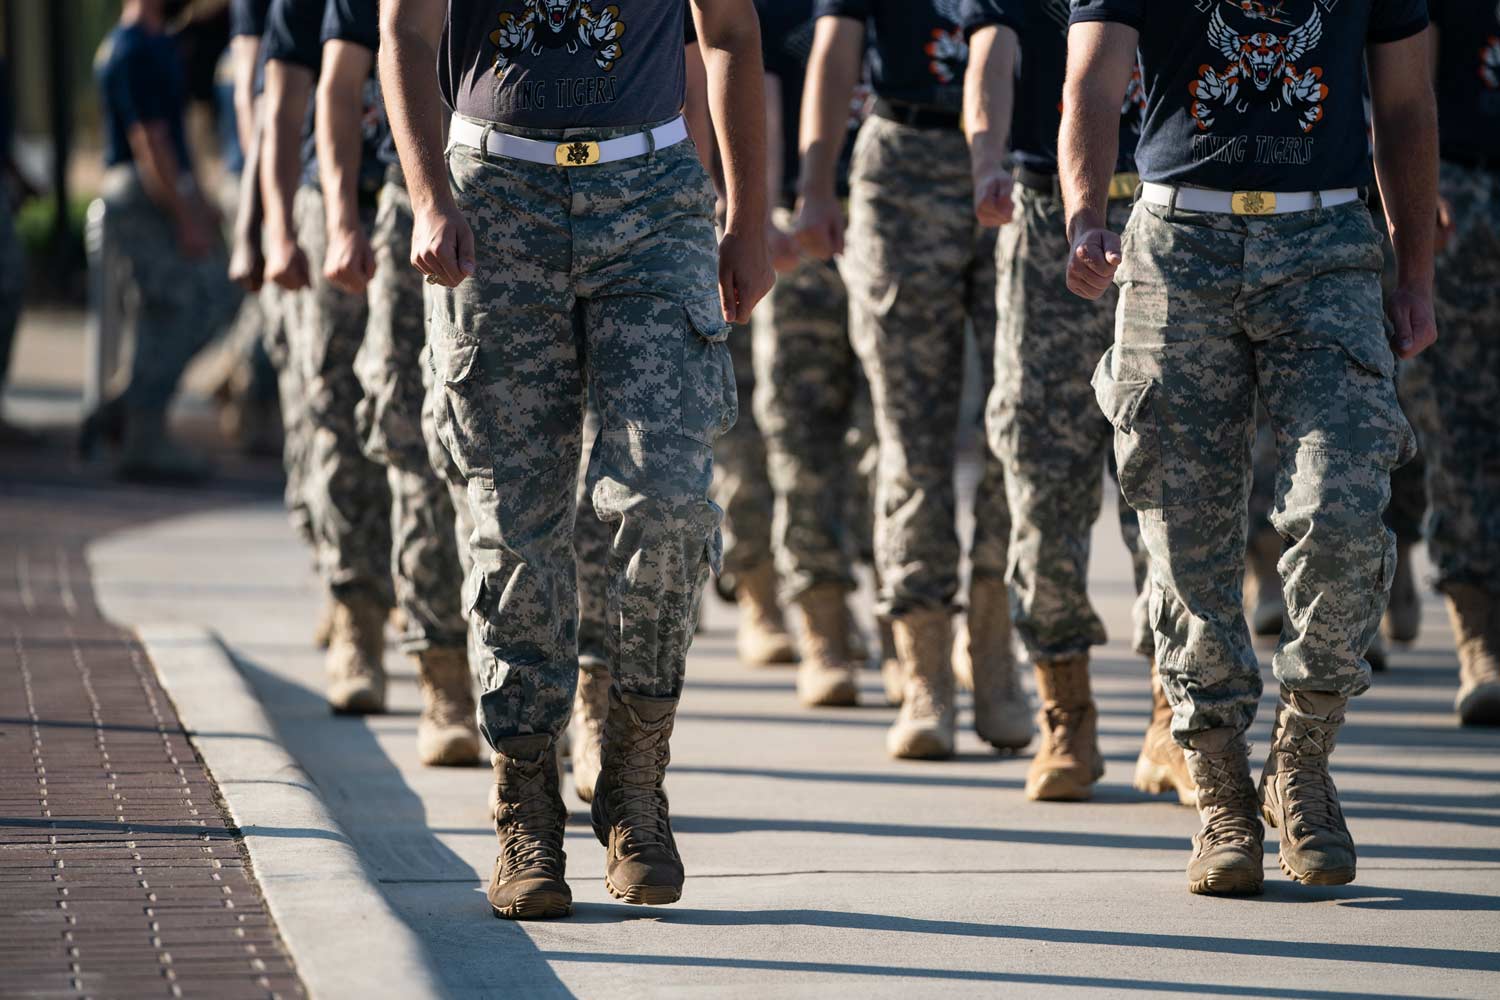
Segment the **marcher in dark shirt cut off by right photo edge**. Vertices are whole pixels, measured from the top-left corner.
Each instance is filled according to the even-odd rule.
[[[1428,0],[1437,52],[1443,235],[1425,351],[1428,555],[1458,640],[1455,711],[1500,726],[1500,9]]]

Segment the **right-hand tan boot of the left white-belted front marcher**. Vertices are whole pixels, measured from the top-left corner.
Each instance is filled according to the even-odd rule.
[[[682,898],[682,856],[672,837],[666,765],[676,699],[609,690],[603,768],[594,789],[594,837],[608,849],[604,888],[624,903]]]

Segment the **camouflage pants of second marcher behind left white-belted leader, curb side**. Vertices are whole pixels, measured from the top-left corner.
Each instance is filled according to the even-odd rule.
[[[369,306],[363,295],[345,295],[322,277],[322,193],[303,187],[294,211],[312,288],[286,297],[286,334],[308,400],[303,498],[318,568],[334,594],[364,592],[388,604],[390,487],[386,469],[364,457],[354,417],[364,394],[354,357],[364,342]],[[374,217],[364,216],[368,226]]]

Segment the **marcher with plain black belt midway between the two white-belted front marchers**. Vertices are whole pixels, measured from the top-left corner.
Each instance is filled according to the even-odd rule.
[[[954,753],[960,663],[969,664],[981,705],[981,738],[1018,750],[1032,736],[1006,612],[1005,483],[987,451],[974,501],[966,633],[957,643],[952,634],[964,327],[988,391],[996,235],[993,222],[976,223],[972,213],[960,127],[968,43],[957,7],[957,0],[818,0],[802,99],[798,238],[813,256],[843,256],[850,333],[879,432],[876,610],[891,621],[904,688],[886,735],[896,757]],[[874,108],[849,171],[846,250],[837,163],[867,25]]]

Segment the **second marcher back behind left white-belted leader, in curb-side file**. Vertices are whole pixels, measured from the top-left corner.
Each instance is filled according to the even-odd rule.
[[[327,198],[320,187],[310,97],[322,70],[326,7],[326,0],[273,0],[266,16],[266,277],[290,292],[282,297],[280,313],[291,363],[302,367],[303,420],[310,427],[303,481],[316,564],[333,604],[328,708],[366,714],[386,709],[382,651],[386,618],[394,603],[392,501],[386,468],[364,454],[356,414],[364,391],[354,358],[369,322],[364,282],[372,262],[366,256],[351,264],[358,243],[346,241],[348,229],[328,229],[327,202],[351,213],[354,232],[368,252],[364,234],[375,222],[375,195],[386,168],[378,162],[380,136],[362,132],[358,157],[330,165],[340,175],[340,187]],[[352,192],[342,186],[345,171]],[[328,277],[333,261],[340,283]],[[350,280],[356,273],[362,276],[357,291],[345,291],[354,286]]]

